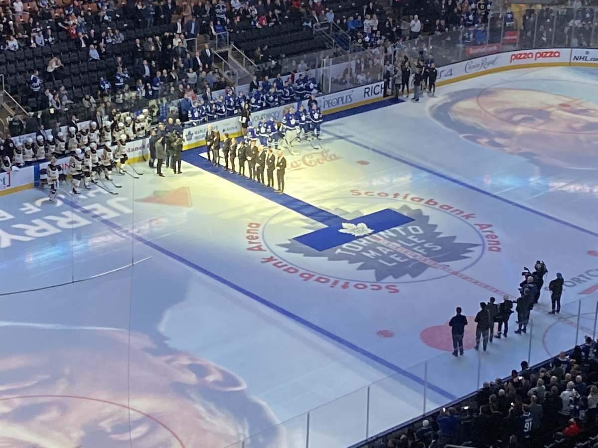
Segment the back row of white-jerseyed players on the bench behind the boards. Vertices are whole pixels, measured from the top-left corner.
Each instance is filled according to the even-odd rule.
[[[149,115],[149,113],[148,113]],[[51,133],[47,137],[38,135],[35,140],[28,138],[23,145],[16,145],[13,151],[12,164],[16,167],[23,167],[35,162],[47,161],[53,157],[63,157],[73,154],[77,148],[86,146],[96,147],[106,145],[108,142],[120,141],[124,135],[127,140],[145,137],[149,133],[151,118],[141,113],[134,120],[130,116],[124,118],[124,122],[105,122],[100,129],[95,121],[90,123],[89,129],[71,126],[66,135],[59,132],[54,138]]]

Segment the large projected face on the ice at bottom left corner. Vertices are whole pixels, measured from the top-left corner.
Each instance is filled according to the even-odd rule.
[[[5,327],[6,336],[26,338],[30,351],[0,357],[2,446],[118,448],[131,438],[148,448],[222,448],[244,438],[252,419],[275,424],[236,376],[190,354],[164,353],[139,333],[131,339],[130,399],[126,331]]]

